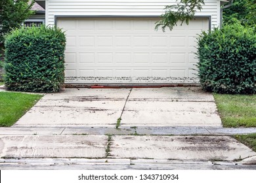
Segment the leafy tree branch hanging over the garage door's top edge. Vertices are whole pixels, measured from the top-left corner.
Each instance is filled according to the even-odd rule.
[[[170,30],[181,22],[181,25],[194,17],[196,10],[202,10],[204,0],[181,0],[180,3],[175,5],[169,5],[164,8],[165,13],[161,14],[161,20],[156,22],[156,30],[161,26],[161,29],[165,31],[166,27]]]

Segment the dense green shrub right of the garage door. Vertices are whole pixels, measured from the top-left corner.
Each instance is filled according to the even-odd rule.
[[[256,34],[238,21],[198,37],[198,76],[206,91],[256,93]]]

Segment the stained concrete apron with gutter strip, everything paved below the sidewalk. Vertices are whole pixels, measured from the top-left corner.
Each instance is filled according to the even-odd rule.
[[[256,169],[228,136],[5,135],[0,169]]]

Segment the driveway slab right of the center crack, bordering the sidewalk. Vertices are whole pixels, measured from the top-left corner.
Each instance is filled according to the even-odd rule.
[[[212,102],[127,101],[121,118],[121,126],[222,126]]]

